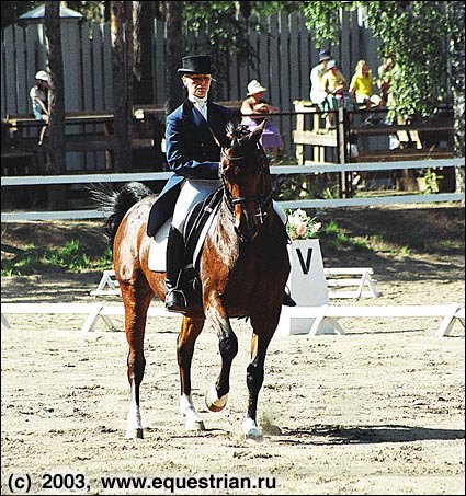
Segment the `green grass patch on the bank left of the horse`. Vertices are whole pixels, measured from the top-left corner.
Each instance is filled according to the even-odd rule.
[[[1,275],[2,277],[23,276],[50,267],[61,267],[78,273],[88,269],[104,270],[112,267],[112,253],[110,249],[106,249],[102,257],[91,259],[81,250],[78,240],[71,240],[62,247],[45,251],[29,245],[21,256],[11,261],[2,261]]]

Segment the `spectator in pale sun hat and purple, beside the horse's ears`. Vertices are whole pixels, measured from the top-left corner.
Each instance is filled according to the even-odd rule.
[[[258,80],[252,80],[248,84],[247,91],[248,97],[241,104],[241,115],[243,116],[241,124],[247,126],[252,131],[264,119],[258,114],[277,114],[280,108],[263,100],[266,88],[264,88]],[[273,153],[276,153],[283,147],[280,131],[270,120],[265,123],[265,128],[262,132],[260,141],[265,150],[272,151]]]

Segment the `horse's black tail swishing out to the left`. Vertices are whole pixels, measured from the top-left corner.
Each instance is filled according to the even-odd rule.
[[[110,212],[105,221],[105,233],[111,247],[113,247],[113,241],[123,217],[129,208],[143,198],[154,195],[154,192],[147,186],[136,182],[126,183],[120,191],[102,185],[92,187],[90,191],[92,199],[98,203],[99,207],[105,212]]]

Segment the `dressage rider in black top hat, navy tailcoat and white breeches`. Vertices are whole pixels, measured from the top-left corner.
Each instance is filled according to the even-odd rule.
[[[147,232],[148,235],[157,232],[170,217],[175,203],[167,244],[166,280],[166,308],[172,312],[183,312],[186,308],[183,292],[178,287],[184,262],[184,221],[191,207],[221,186],[218,175],[220,148],[213,132],[221,146],[227,146],[230,141],[226,128],[231,120],[228,108],[207,100],[212,82],[211,57],[189,56],[182,61],[183,67],[178,72],[187,90],[187,100],[167,117],[166,128],[167,161],[174,174],[154,204]],[[285,295],[284,304],[296,303]]]

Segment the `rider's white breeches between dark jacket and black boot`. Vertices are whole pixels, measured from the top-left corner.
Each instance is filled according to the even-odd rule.
[[[171,224],[183,233],[184,221],[187,212],[197,201],[205,199],[211,193],[216,192],[221,186],[220,180],[186,180],[181,186],[180,196],[174,207],[173,220]],[[286,214],[282,207],[273,201],[273,209],[279,215],[283,223],[286,223]]]

